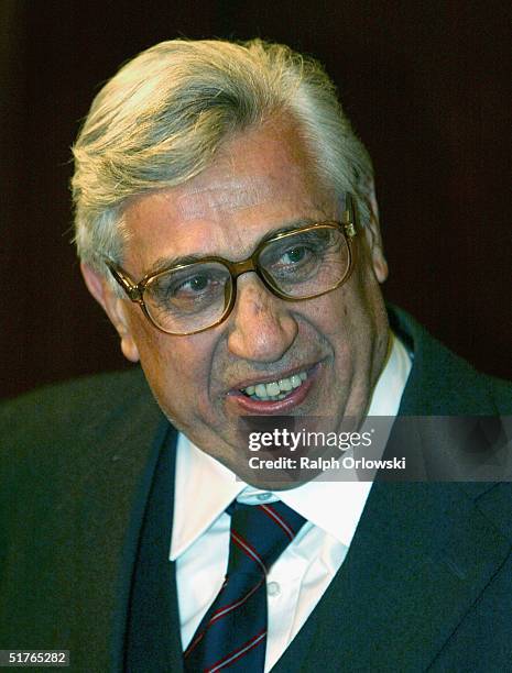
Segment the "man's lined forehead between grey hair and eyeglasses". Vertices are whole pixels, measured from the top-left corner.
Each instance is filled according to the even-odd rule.
[[[233,135],[214,165],[184,185],[135,199],[123,217],[123,263],[145,273],[166,257],[244,254],[272,229],[333,218],[334,210],[297,131],[269,123]]]

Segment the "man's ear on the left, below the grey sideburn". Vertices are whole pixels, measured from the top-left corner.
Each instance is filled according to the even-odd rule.
[[[104,308],[110,322],[121,338],[121,351],[130,362],[139,362],[139,349],[133,340],[127,319],[126,301],[116,296],[109,282],[102,274],[88,264],[80,264],[81,275],[89,293]]]

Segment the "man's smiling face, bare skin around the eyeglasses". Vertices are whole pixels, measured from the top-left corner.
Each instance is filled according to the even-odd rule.
[[[185,255],[248,257],[269,232],[339,220],[335,195],[318,181],[290,125],[269,123],[226,143],[211,167],[188,183],[135,199],[124,212],[122,266],[135,280],[156,261]],[[305,301],[274,297],[254,273],[238,279],[229,318],[203,333],[164,334],[104,284],[123,352],[140,358],[161,408],[203,451],[248,479],[241,416],[361,418],[382,368],[388,323],[379,289],[386,275],[377,223],[356,238],[356,264],[340,288]],[[280,401],[251,401],[241,390],[305,373]]]

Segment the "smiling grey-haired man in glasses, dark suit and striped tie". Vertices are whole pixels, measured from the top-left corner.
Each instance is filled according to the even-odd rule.
[[[84,278],[152,395],[133,371],[4,408],[1,648],[83,671],[506,670],[509,484],[248,462],[248,417],[511,412],[508,384],[386,311],[371,163],[320,66],[162,43],[74,154]],[[271,561],[265,526],[290,538]]]

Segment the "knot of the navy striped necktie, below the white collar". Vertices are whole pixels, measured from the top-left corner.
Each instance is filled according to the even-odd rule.
[[[271,505],[235,503],[228,576],[235,572],[266,575],[304,522],[301,515],[281,501]]]

